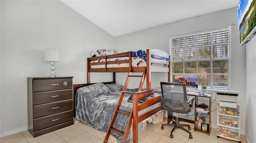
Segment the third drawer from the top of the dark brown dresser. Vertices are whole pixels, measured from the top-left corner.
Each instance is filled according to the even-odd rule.
[[[73,109],[73,103],[71,100],[65,100],[65,101],[59,101],[59,102],[53,102],[53,103],[46,103],[46,104],[40,104],[35,105],[34,108],[34,118],[55,114],[58,112],[63,112],[67,110]]]

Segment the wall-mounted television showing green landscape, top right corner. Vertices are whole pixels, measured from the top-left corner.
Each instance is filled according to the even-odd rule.
[[[256,0],[240,0],[237,7],[240,46],[256,35]]]

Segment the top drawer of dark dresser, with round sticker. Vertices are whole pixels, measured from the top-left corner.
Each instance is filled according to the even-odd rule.
[[[33,92],[59,90],[67,88],[72,88],[72,78],[33,80]]]

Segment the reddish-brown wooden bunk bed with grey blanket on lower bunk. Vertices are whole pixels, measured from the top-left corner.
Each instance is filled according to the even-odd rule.
[[[142,55],[140,55],[140,57],[142,57]],[[118,58],[118,60],[114,60],[115,58]],[[170,56],[164,51],[161,51],[158,49],[152,49],[152,50],[147,49],[146,57],[142,58],[144,59],[144,61],[141,60],[141,58],[139,59],[139,62],[141,63],[141,61],[143,61],[144,64],[136,66],[134,63],[138,61],[138,59],[136,59],[136,61],[133,61],[134,59],[136,58],[133,57],[132,52],[88,58],[87,59],[87,84],[74,84],[73,95],[75,99],[74,100],[74,117],[79,116],[80,118],[84,118],[84,117],[89,118],[88,117],[89,115],[86,115],[86,112],[88,112],[88,110],[84,110],[84,106],[89,106],[88,104],[90,103],[90,104],[93,104],[95,109],[99,110],[99,112],[97,113],[92,113],[94,114],[93,118],[98,118],[98,120],[101,120],[102,118],[104,118],[106,114],[111,114],[111,116],[114,116],[113,113],[116,112],[116,110],[113,109],[113,105],[111,105],[112,106],[111,109],[110,107],[106,107],[106,106],[102,107],[102,104],[104,101],[108,102],[109,98],[113,97],[114,99],[111,99],[110,102],[112,103],[114,101],[115,102],[114,106],[116,106],[117,104],[121,104],[120,108],[127,110],[125,112],[131,113],[132,127],[125,126],[125,127],[121,127],[121,129],[127,130],[126,128],[129,127],[128,129],[129,134],[126,135],[126,138],[127,138],[126,142],[135,143],[135,142],[138,142],[138,123],[148,118],[149,116],[155,114],[156,112],[162,110],[162,106],[160,104],[161,96],[159,94],[161,92],[161,89],[160,87],[151,88],[151,73],[167,72],[168,82],[170,82]],[[121,66],[116,67],[116,65],[121,65]],[[90,83],[90,72],[112,72],[113,81],[104,82],[104,83]],[[116,72],[128,72],[127,79],[129,78],[129,75],[132,74],[132,72],[142,72],[143,75],[142,75],[139,88],[136,90],[128,89],[127,85],[129,80],[127,79],[124,86],[116,85],[115,84]],[[142,89],[145,78],[146,78],[146,89]],[[96,91],[96,89],[100,89],[100,91]],[[122,103],[121,102],[119,103],[116,96],[110,95],[110,94],[113,94],[112,90],[116,91],[116,93],[114,94],[118,98],[120,97],[120,93],[121,93],[121,96],[124,93],[128,93],[128,95],[124,94],[124,98],[122,98],[122,101],[121,101]],[[126,92],[124,92],[123,90]],[[88,96],[89,95],[88,91],[93,91],[94,92],[93,96]],[[104,94],[104,95],[100,96],[100,94]],[[91,100],[85,101],[87,100],[86,96],[88,96]],[[143,102],[140,103],[140,101],[142,99],[145,99],[145,97],[147,100],[143,100]],[[103,98],[104,100],[100,100]],[[132,102],[127,102],[127,99],[131,100],[131,98],[132,98]],[[81,105],[80,100],[83,100],[82,104],[86,102],[86,105]],[[100,102],[98,102],[99,100]],[[98,104],[100,104],[100,106],[97,106],[96,104],[94,104],[94,102],[97,102]],[[109,103],[104,103],[104,104],[109,104]],[[83,109],[80,109],[80,108],[83,108]],[[110,110],[110,113],[106,113],[105,110],[98,109],[98,108],[104,108],[104,109],[108,108],[108,110]],[[90,110],[94,110],[94,108],[90,107]],[[100,112],[102,112],[104,116],[98,116],[102,114]],[[91,121],[85,121],[85,120],[91,120],[91,119],[82,119],[82,121],[86,124],[90,124],[90,126],[98,130],[106,131],[106,127],[102,127],[106,125],[99,125],[99,124],[106,124],[106,123],[103,123],[102,121],[99,121],[99,122],[96,121],[97,123],[94,123],[93,121],[91,122]],[[102,119],[102,120],[104,120],[104,122],[107,122],[108,125],[112,123],[112,121],[110,122],[110,119],[108,119],[108,121],[107,119]],[[122,124],[126,124],[126,122],[128,121],[128,118],[118,114],[116,120],[121,120],[121,121],[118,121],[118,123],[115,123],[114,126],[122,126]],[[107,131],[107,134],[108,134],[108,131]],[[121,142],[122,138],[125,136],[123,135],[123,137],[120,137],[118,133],[111,133],[111,135],[116,137],[118,142]],[[105,142],[107,142],[108,137],[105,137],[105,139],[106,139]],[[125,142],[125,140],[122,142]]]

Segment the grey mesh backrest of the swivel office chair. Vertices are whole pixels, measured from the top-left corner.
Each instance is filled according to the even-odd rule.
[[[162,108],[172,112],[188,110],[189,103],[186,84],[176,82],[160,82],[162,90]]]

